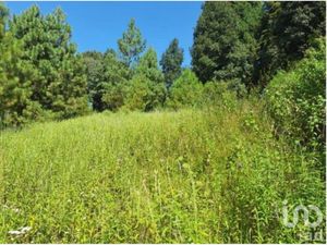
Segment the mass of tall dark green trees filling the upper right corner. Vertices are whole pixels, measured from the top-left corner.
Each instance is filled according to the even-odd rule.
[[[265,87],[326,35],[325,8],[323,1],[206,2],[194,32],[193,71],[204,83]]]

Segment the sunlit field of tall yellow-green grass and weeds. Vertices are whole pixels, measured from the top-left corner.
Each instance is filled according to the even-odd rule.
[[[325,207],[315,158],[250,102],[5,131],[0,162],[1,243],[299,242],[282,201]]]

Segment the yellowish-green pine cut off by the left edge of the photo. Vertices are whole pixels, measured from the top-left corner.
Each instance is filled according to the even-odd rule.
[[[32,65],[22,60],[22,46],[5,32],[8,10],[0,3],[0,127],[19,126],[35,120],[40,107],[31,100]]]

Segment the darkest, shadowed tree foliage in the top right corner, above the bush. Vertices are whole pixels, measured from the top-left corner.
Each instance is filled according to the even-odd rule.
[[[325,36],[326,2],[265,2],[255,79],[266,86],[280,69],[303,58],[310,41]]]

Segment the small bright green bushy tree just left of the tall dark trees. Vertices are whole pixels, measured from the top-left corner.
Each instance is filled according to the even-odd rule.
[[[178,109],[202,102],[203,85],[191,70],[184,70],[172,84],[167,106]]]

